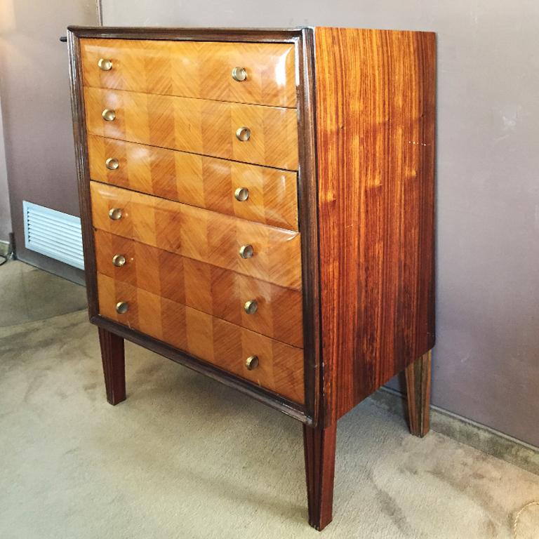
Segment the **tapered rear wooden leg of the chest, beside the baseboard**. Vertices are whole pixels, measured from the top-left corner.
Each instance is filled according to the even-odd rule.
[[[430,350],[406,367],[410,432],[424,437],[430,430]]]

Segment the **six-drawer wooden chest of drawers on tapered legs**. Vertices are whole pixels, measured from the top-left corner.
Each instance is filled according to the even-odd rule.
[[[405,371],[428,431],[435,39],[70,27],[91,321],[303,423],[331,521],[338,418]]]

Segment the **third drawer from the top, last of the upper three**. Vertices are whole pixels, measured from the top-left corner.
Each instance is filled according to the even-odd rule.
[[[294,172],[96,135],[88,135],[88,159],[92,180],[267,225],[298,229]],[[243,189],[239,200],[234,197],[237,189]]]

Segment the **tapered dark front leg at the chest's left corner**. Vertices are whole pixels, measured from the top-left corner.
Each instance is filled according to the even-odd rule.
[[[98,328],[98,331],[107,401],[118,404],[126,400],[124,339],[103,328]]]

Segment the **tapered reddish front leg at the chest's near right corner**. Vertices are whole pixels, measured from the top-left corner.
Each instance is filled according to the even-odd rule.
[[[325,429],[303,425],[309,524],[317,530],[332,519],[336,435],[337,422]]]

